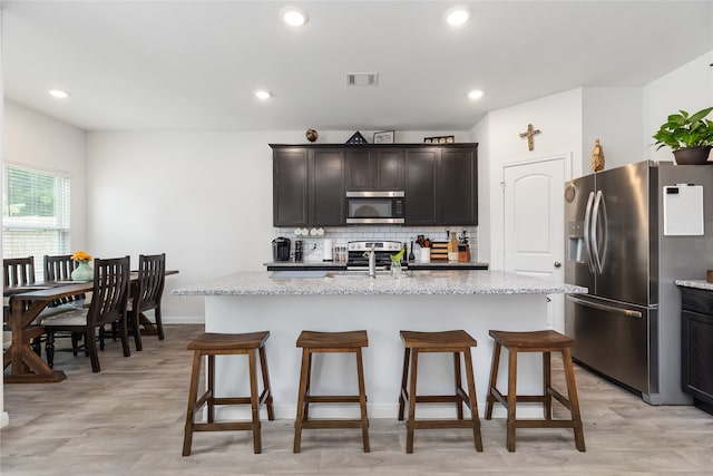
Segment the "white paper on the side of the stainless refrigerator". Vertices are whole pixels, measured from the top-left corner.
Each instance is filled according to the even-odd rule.
[[[664,186],[664,235],[703,235],[703,186]]]

